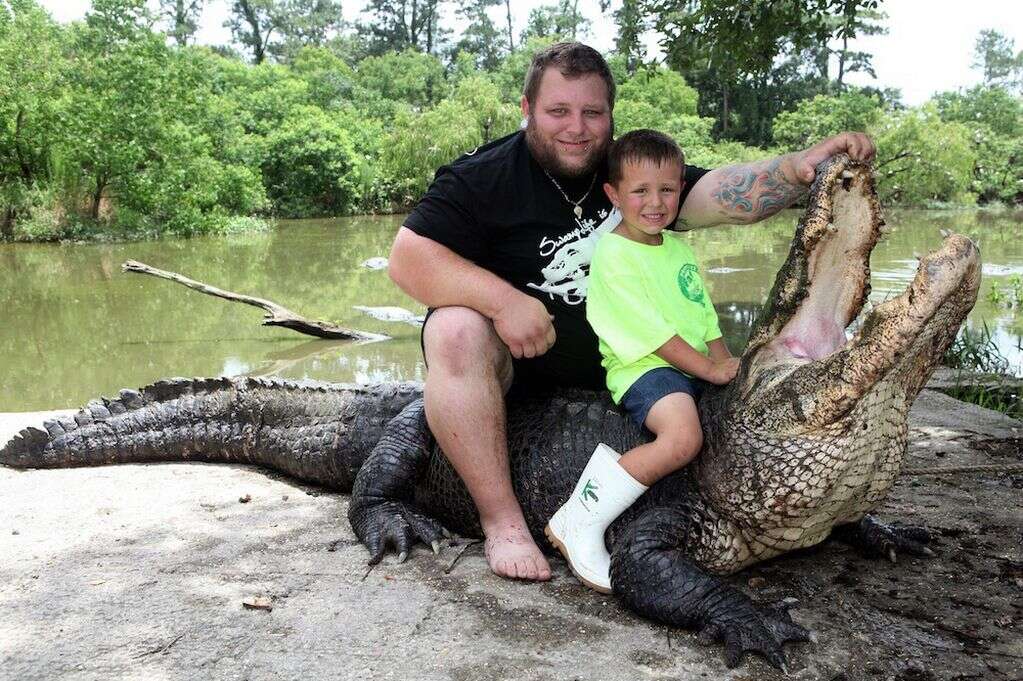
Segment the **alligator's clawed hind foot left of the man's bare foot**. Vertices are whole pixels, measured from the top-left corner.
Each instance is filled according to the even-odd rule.
[[[398,554],[398,562],[404,562],[417,541],[440,553],[441,540],[448,536],[440,523],[403,501],[363,506],[352,518],[352,528],[369,549],[370,565],[379,563],[389,548]]]

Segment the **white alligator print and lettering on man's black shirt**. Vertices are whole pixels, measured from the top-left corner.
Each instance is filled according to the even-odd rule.
[[[540,257],[553,257],[540,270],[543,281],[526,285],[542,290],[550,298],[560,296],[568,305],[584,302],[589,282],[589,261],[593,258],[596,240],[622,221],[622,214],[618,209],[612,209],[611,213],[602,210],[597,217],[603,221],[601,224],[596,224],[595,220],[576,220],[579,226],[571,232],[557,239],[546,236],[540,239]]]

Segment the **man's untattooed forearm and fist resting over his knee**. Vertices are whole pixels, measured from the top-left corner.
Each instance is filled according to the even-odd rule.
[[[461,306],[493,320],[513,357],[542,355],[554,343],[554,327],[542,303],[407,227],[398,230],[391,246],[388,274],[424,305]]]

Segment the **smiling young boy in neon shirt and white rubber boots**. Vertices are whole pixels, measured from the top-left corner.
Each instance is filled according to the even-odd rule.
[[[604,185],[621,224],[596,244],[586,319],[601,342],[608,389],[656,439],[619,455],[601,443],[546,535],[583,584],[611,592],[608,526],[647,489],[678,470],[703,445],[696,399],[702,381],[724,384],[731,357],[692,248],[665,232],[678,215],[684,155],[653,130],[615,141]]]

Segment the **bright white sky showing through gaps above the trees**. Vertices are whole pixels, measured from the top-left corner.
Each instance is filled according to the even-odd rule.
[[[518,34],[526,25],[529,10],[552,0],[515,0],[513,24]],[[89,0],[41,0],[41,4],[59,21],[82,18]],[[613,3],[612,11],[620,3]],[[211,0],[203,14],[197,42],[224,44],[230,32],[223,28],[228,0]],[[342,0],[348,20],[359,18],[362,0]],[[597,0],[581,0],[583,14],[592,22],[591,35],[584,42],[607,51],[614,47],[615,26],[611,12],[601,12]],[[888,18],[889,32],[884,36],[862,38],[850,49],[874,55],[877,80],[853,74],[847,80],[856,85],[894,87],[902,91],[902,101],[921,104],[935,92],[969,87],[980,82],[980,72],[971,69],[974,43],[984,29],[994,29],[1012,38],[1016,49],[1023,49],[1023,2],[1016,0],[887,0],[881,5]],[[493,18],[504,26],[503,7],[493,9]],[[648,43],[656,45],[650,36]],[[834,71],[834,70],[833,70]]]

